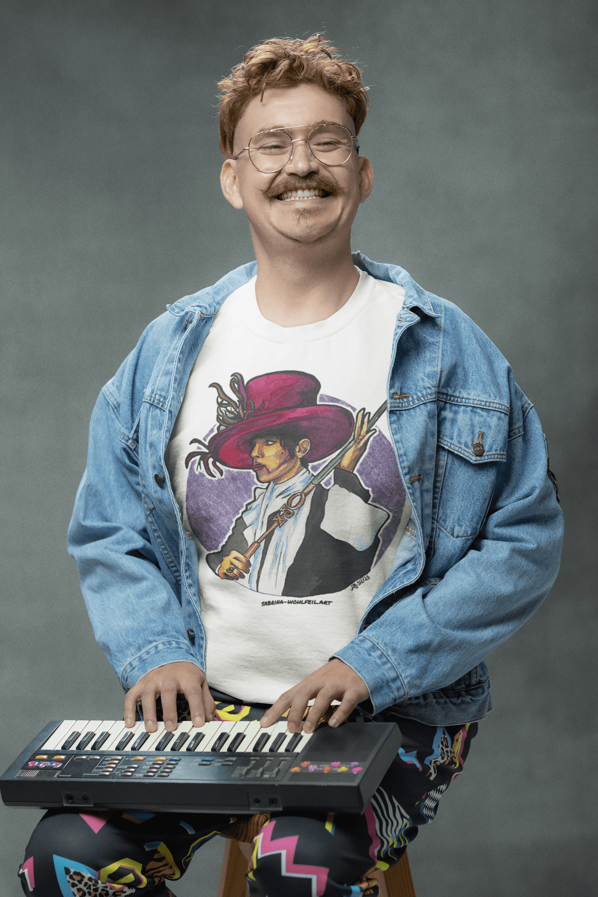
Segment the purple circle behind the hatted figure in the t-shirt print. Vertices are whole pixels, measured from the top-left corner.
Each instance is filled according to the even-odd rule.
[[[342,399],[324,395],[318,396],[318,399],[326,403],[337,402],[355,412],[352,405],[348,405]],[[209,440],[214,430],[215,427],[212,427],[212,430],[206,433],[204,442]],[[309,469],[316,474],[318,468],[324,464],[325,460],[312,464]],[[203,470],[197,472],[193,460],[187,474],[186,516],[195,537],[206,552],[215,552],[221,547],[229,536],[236,518],[247,502],[252,500],[256,485],[260,484],[252,470],[235,470],[230,467],[223,470],[223,476],[211,477]],[[378,431],[369,440],[368,450],[361,457],[355,473],[365,488],[371,492],[371,501],[391,514],[391,518],[380,533],[381,544],[375,562],[377,563],[393,540],[405,503],[405,492],[396,466],[394,449],[383,433]],[[324,485],[329,487],[331,483],[332,475],[325,480]]]

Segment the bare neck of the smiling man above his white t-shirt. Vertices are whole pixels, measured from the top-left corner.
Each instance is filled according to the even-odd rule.
[[[254,247],[257,307],[266,320],[280,327],[330,318],[342,309],[360,279],[349,240],[336,248],[296,243],[292,253],[266,251],[256,239]]]

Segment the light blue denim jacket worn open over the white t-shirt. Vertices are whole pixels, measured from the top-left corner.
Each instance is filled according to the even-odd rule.
[[[353,260],[405,290],[387,414],[412,519],[336,656],[368,685],[374,711],[398,705],[429,725],[464,724],[490,710],[484,658],[533,614],[559,570],[563,519],[545,440],[507,361],[470,318],[403,268]],[[205,670],[195,542],[164,450],[214,314],[255,273],[256,263],[239,267],[168,306],[91,415],[68,546],[125,689],[172,661]]]

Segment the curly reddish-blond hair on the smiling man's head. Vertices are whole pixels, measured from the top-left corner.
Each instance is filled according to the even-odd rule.
[[[355,123],[355,133],[366,118],[368,88],[361,83],[357,65],[341,58],[339,51],[320,34],[301,40],[272,38],[256,44],[222,78],[220,88],[220,149],[232,156],[232,142],[238,120],[247,103],[266,87],[294,87],[299,83],[317,84],[336,94]]]

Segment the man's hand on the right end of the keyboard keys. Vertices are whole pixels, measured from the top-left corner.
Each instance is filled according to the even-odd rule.
[[[306,732],[313,732],[320,719],[332,701],[341,701],[338,707],[334,707],[332,717],[328,725],[340,726],[349,716],[355,704],[365,701],[369,697],[368,686],[360,675],[357,675],[351,666],[342,663],[342,660],[333,658],[325,666],[320,666],[314,673],[303,679],[299,685],[284,692],[270,710],[266,710],[260,723],[262,726],[272,726],[285,710],[289,710],[287,718],[290,732],[300,732],[303,728]],[[313,707],[309,710],[308,718],[302,724],[301,720],[308,706],[308,701],[315,698]]]

